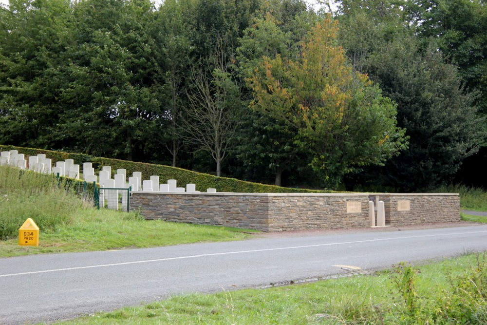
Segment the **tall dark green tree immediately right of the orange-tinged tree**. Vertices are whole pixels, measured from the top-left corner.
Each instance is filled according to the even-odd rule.
[[[343,1],[340,41],[357,69],[370,73],[397,103],[410,148],[363,180],[396,191],[430,189],[448,181],[485,141],[484,118],[457,69],[435,42],[424,42],[398,1]],[[363,35],[365,39],[356,38]],[[425,44],[426,47],[425,47]]]

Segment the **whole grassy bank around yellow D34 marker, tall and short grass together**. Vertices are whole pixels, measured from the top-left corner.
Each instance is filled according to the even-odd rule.
[[[240,240],[242,229],[146,221],[139,213],[96,210],[56,177],[0,166],[0,257],[37,253],[145,248]],[[38,247],[19,247],[27,218],[40,228]],[[252,231],[252,230],[249,230]]]

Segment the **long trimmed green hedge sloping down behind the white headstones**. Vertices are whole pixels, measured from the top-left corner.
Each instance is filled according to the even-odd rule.
[[[53,164],[56,161],[63,161],[65,159],[73,159],[75,164],[82,167],[84,162],[91,162],[94,169],[99,171],[103,166],[112,166],[112,175],[116,173],[117,169],[124,168],[127,170],[127,175],[132,172],[142,172],[143,179],[149,179],[152,175],[159,176],[159,182],[164,184],[168,179],[175,179],[179,186],[186,186],[186,184],[196,184],[197,191],[206,191],[208,188],[215,188],[219,192],[237,192],[237,193],[330,193],[332,191],[318,191],[306,189],[293,189],[279,187],[275,185],[265,185],[260,183],[251,183],[235,178],[218,177],[210,174],[191,172],[185,169],[169,167],[163,165],[155,165],[141,162],[126,161],[120,159],[94,157],[82,153],[63,153],[57,151],[21,148],[14,146],[0,145],[0,151],[18,150],[19,153],[29,155],[37,155],[44,153],[46,157],[51,158]]]

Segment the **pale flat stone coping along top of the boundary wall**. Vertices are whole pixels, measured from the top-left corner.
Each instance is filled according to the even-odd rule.
[[[459,196],[459,193],[194,193],[194,192],[160,192],[160,191],[137,191],[132,194],[177,194],[177,195],[210,195],[210,196]]]

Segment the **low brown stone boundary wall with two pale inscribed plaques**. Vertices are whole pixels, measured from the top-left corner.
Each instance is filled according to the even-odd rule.
[[[369,199],[384,201],[386,225],[460,221],[458,194],[132,192],[146,219],[283,231],[370,227]]]

